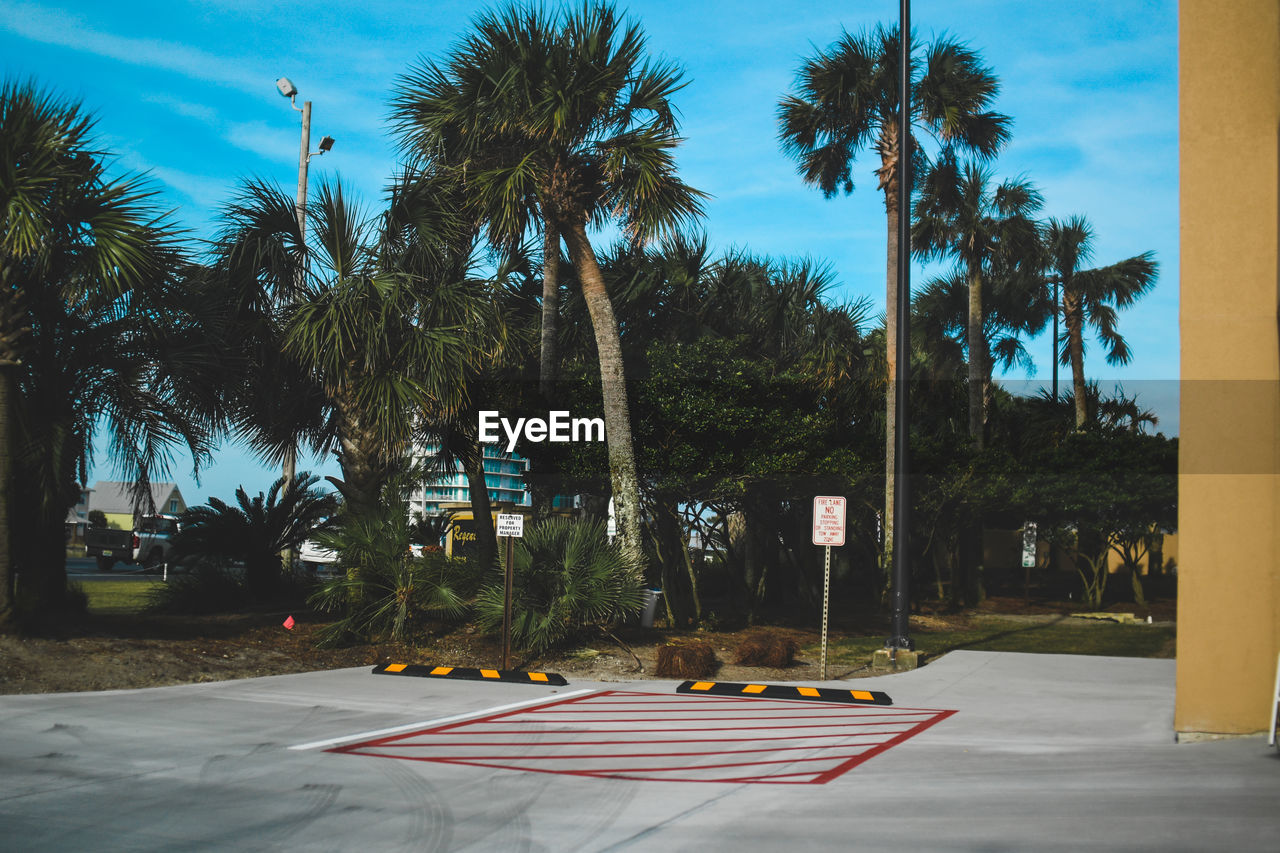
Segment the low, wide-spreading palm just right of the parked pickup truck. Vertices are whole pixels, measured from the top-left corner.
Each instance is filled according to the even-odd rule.
[[[280,576],[280,552],[298,548],[337,508],[333,496],[316,488],[319,482],[302,471],[288,482],[276,479],[253,498],[239,487],[236,506],[209,498],[207,505],[191,507],[174,537],[173,560],[241,560],[250,596],[269,596]]]

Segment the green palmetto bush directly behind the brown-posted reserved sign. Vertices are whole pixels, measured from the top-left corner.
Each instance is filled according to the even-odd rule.
[[[489,630],[502,628],[500,566],[493,576],[476,597]],[[644,601],[640,566],[609,543],[603,523],[552,519],[516,543],[511,640],[518,648],[540,653],[585,630],[608,630]]]

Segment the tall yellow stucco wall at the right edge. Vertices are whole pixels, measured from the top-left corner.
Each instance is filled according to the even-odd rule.
[[[1179,4],[1179,733],[1262,731],[1280,651],[1280,4]]]

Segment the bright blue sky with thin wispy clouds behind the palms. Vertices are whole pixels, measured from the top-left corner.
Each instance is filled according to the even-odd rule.
[[[442,58],[490,8],[408,0],[164,0],[13,3],[0,0],[0,74],[32,78],[97,117],[120,172],[150,175],[193,241],[209,240],[218,210],[247,177],[297,184],[298,113],[278,77],[312,101],[311,138],[333,136],[311,160],[311,186],[340,178],[378,204],[397,165],[387,124],[397,79]],[[710,193],[701,223],[712,246],[831,265],[837,300],[884,306],[886,225],[876,158],[859,156],[849,196],[826,200],[803,183],[777,142],[778,99],[796,69],[841,29],[896,23],[892,0],[844,4],[783,0],[618,3],[648,35],[650,54],[678,63],[676,95],[685,143],[682,178]],[[995,109],[1014,120],[992,164],[997,179],[1030,179],[1044,216],[1082,214],[1096,233],[1094,263],[1153,251],[1155,289],[1120,315],[1133,350],[1123,368],[1094,345],[1085,371],[1105,392],[1117,384],[1178,432],[1178,29],[1174,0],[915,0],[918,41],[947,36],[982,54],[1001,81]],[[315,142],[314,142],[315,145]],[[915,268],[913,283],[925,280]],[[1050,378],[1047,336],[1029,342],[1034,375]],[[100,442],[93,479],[120,479]],[[332,460],[300,469],[334,471]],[[173,476],[188,505],[250,494],[278,475],[227,442],[200,473],[175,455]]]

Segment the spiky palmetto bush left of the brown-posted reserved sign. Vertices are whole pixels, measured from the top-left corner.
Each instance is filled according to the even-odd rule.
[[[426,619],[460,619],[475,592],[475,570],[465,560],[410,551],[411,528],[402,506],[347,516],[316,540],[338,552],[339,575],[310,603],[342,617],[326,628],[321,646],[387,637],[408,639]]]

